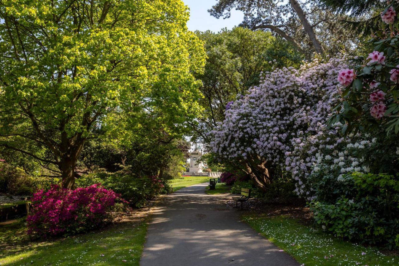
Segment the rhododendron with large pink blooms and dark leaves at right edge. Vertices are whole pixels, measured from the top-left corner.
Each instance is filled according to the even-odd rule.
[[[343,68],[338,81],[345,86],[342,101],[329,124],[341,122],[344,133],[380,130],[399,133],[399,23],[398,1],[388,1],[381,12],[383,27],[373,34],[368,56],[354,68]]]

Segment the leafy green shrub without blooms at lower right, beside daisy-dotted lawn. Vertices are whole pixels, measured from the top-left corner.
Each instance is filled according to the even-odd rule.
[[[398,244],[399,181],[391,175],[352,173],[315,183],[314,218],[339,237],[365,244]]]

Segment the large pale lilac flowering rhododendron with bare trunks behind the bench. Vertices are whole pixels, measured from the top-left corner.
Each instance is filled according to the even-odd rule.
[[[260,85],[229,103],[225,120],[211,132],[213,152],[221,161],[236,161],[265,191],[294,146],[325,127],[344,68],[342,59],[316,59],[300,69],[261,73]]]

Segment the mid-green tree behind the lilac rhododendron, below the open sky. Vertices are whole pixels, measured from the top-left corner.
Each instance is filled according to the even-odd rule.
[[[198,75],[204,97],[199,125],[192,123],[195,137],[209,143],[206,133],[223,121],[226,105],[237,94],[244,95],[249,87],[259,84],[259,73],[272,67],[299,66],[303,56],[287,41],[270,32],[251,31],[236,27],[219,33],[197,32],[205,43],[207,62]]]

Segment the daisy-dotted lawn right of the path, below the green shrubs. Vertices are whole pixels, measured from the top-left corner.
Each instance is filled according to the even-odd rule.
[[[342,241],[292,218],[249,215],[243,220],[304,265],[399,265],[399,256]]]

